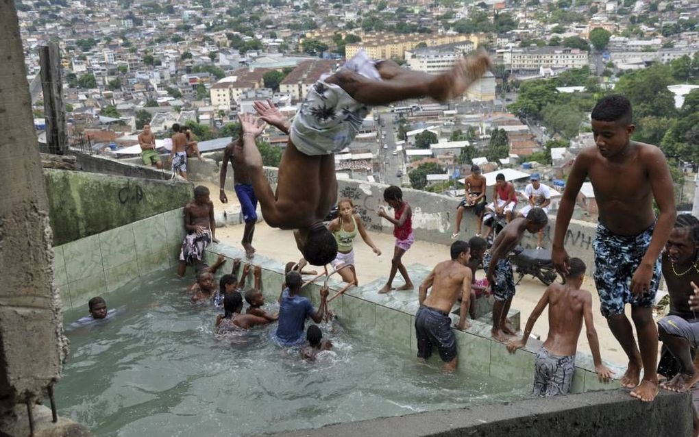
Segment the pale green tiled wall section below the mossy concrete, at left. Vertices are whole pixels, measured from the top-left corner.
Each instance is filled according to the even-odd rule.
[[[183,208],[167,211],[54,248],[55,285],[64,308],[160,268],[178,264],[185,238]]]

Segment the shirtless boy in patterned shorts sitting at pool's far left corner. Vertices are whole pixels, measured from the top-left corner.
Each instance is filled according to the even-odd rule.
[[[185,230],[187,235],[182,242],[177,268],[180,277],[185,275],[187,264],[199,267],[204,250],[210,243],[218,243],[214,204],[209,198],[209,189],[203,185],[194,188],[194,201],[185,205]]]

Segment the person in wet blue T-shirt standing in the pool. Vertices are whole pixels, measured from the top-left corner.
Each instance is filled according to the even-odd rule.
[[[314,310],[310,300],[299,296],[303,280],[298,271],[290,271],[284,280],[286,288],[279,296],[279,324],[273,338],[282,346],[298,346],[303,343],[305,320],[320,323],[327,309],[328,287],[320,289],[320,306]]]

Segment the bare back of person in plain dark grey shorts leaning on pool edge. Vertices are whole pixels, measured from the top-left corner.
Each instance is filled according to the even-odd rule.
[[[442,261],[435,266],[430,276],[428,279],[432,280],[432,291],[422,303],[424,306],[449,313],[463,290],[468,289],[470,292],[473,277],[471,270],[459,262]],[[465,287],[466,283],[469,287]],[[468,296],[464,299],[468,299]]]

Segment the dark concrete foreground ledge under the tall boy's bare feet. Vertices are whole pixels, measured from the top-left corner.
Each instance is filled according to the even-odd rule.
[[[265,436],[689,436],[689,393],[643,403],[623,389],[326,425]]]

